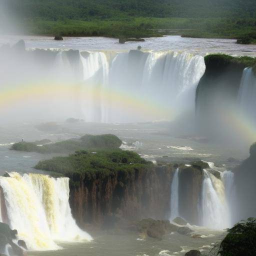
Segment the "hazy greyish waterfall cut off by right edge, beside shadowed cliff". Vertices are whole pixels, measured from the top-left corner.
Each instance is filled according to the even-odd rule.
[[[238,104],[242,115],[256,125],[256,76],[251,67],[243,70],[238,91]]]

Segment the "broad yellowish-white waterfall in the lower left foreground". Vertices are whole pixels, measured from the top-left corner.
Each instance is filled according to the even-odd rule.
[[[28,249],[57,249],[55,240],[91,240],[71,215],[68,178],[10,172],[0,177],[8,222]]]

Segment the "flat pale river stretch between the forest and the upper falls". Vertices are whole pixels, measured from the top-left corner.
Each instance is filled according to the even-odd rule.
[[[58,48],[80,50],[128,50],[141,45],[143,49],[189,51],[195,54],[222,52],[231,55],[256,55],[255,45],[235,43],[235,39],[186,38],[179,35],[145,38],[144,42],[118,43],[107,37],[64,37],[63,41],[49,36],[2,36],[0,43],[14,43],[23,38],[28,48]]]

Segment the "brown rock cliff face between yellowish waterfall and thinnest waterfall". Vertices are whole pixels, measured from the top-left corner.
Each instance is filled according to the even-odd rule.
[[[172,173],[171,167],[153,166],[103,178],[72,176],[79,180],[78,185],[70,185],[72,214],[80,226],[102,223],[112,214],[125,219],[167,218]]]

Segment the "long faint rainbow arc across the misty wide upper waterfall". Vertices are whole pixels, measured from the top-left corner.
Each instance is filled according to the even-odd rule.
[[[15,107],[17,103],[30,101],[36,103],[40,99],[103,102],[109,103],[113,107],[121,106],[122,110],[126,112],[139,112],[147,118],[171,120],[175,117],[174,111],[170,107],[150,98],[141,100],[139,95],[136,96],[116,88],[104,87],[100,84],[72,84],[68,82],[31,82],[18,86],[9,85],[0,90],[0,109],[7,111],[8,108]]]

